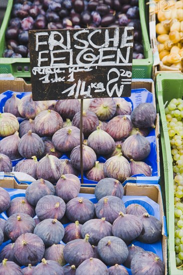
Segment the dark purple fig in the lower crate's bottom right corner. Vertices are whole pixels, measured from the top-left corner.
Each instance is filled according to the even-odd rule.
[[[164,263],[153,252],[139,251],[131,260],[132,275],[164,275]]]

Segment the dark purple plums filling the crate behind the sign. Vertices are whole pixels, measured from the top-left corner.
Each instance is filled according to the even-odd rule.
[[[138,0],[14,0],[3,57],[29,57],[28,30],[134,27],[133,58],[141,59]]]

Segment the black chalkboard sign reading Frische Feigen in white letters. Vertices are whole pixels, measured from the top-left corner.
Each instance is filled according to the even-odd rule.
[[[33,100],[131,94],[133,27],[30,30]]]

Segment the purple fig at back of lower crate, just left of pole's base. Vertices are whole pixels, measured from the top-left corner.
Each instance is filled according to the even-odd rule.
[[[79,190],[80,180],[73,174],[62,174],[56,183],[56,195],[65,202],[78,196]]]

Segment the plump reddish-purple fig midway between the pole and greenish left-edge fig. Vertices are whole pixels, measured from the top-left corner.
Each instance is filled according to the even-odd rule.
[[[39,136],[52,136],[62,127],[63,119],[56,111],[44,110],[35,116],[34,123]]]

